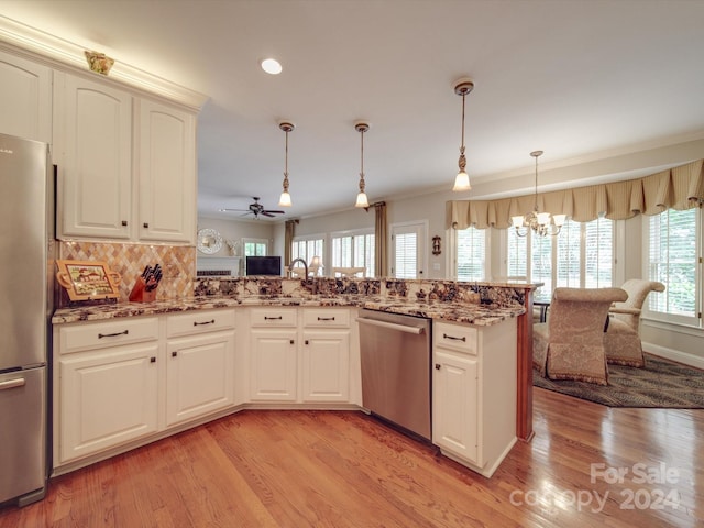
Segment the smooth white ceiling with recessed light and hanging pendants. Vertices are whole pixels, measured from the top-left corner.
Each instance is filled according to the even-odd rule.
[[[353,205],[358,120],[370,200],[449,189],[461,77],[473,184],[530,174],[529,188],[538,148],[549,168],[704,138],[700,0],[0,0],[0,14],[208,95],[206,216],[253,196],[279,209],[280,120],[296,124],[283,218]]]

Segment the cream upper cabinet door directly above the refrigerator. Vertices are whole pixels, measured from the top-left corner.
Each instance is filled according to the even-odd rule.
[[[0,132],[52,142],[52,70],[0,52]]]

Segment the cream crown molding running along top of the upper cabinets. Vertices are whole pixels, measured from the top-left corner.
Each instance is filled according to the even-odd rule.
[[[90,73],[84,55],[86,47],[0,15],[0,45],[3,44],[6,45],[2,47],[13,48],[30,56],[30,58],[47,63],[53,67],[65,68],[68,66],[70,69]],[[209,99],[204,94],[163,79],[121,61],[116,61],[107,78],[164,97],[196,111],[200,111]]]

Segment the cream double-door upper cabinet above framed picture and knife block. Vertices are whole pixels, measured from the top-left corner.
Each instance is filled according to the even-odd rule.
[[[195,116],[100,80],[54,76],[58,237],[195,243]]]

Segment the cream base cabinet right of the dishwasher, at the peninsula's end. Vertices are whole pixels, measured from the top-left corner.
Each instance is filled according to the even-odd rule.
[[[433,322],[432,442],[491,476],[516,442],[515,319]]]

